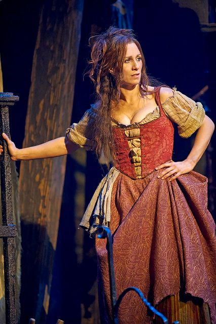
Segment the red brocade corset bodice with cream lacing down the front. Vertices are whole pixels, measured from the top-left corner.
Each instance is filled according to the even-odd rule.
[[[116,169],[131,179],[143,179],[162,163],[172,158],[172,121],[161,106],[159,91],[155,93],[160,117],[147,124],[113,127],[116,147]]]

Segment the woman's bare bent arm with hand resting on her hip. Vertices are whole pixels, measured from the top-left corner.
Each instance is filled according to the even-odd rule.
[[[158,178],[165,180],[166,178],[172,176],[169,179],[169,181],[172,181],[181,174],[192,171],[207,148],[213,131],[214,123],[208,116],[205,115],[203,123],[197,131],[194,145],[188,157],[184,161],[179,162],[170,160],[155,168],[156,170],[166,168],[158,175]]]

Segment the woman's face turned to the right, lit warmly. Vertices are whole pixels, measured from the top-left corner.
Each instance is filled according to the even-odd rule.
[[[136,86],[141,77],[141,54],[135,43],[127,44],[127,52],[123,64],[123,87]]]

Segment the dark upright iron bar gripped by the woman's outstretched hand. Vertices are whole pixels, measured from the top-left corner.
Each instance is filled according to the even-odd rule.
[[[19,97],[12,93],[0,93],[0,135],[5,132],[10,137],[8,106],[14,105]],[[11,158],[5,141],[2,141],[4,153],[0,158],[2,225],[0,237],[3,238],[4,276],[5,276],[5,306],[6,323],[16,324],[16,266],[15,240],[16,226],[13,224]]]

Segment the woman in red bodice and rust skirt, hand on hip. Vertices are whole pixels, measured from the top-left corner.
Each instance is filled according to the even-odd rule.
[[[113,233],[118,295],[138,287],[169,321],[215,320],[214,224],[207,211],[207,179],[193,168],[214,126],[200,103],[168,87],[151,87],[145,59],[131,30],[109,28],[95,37],[90,78],[97,101],[66,136],[17,149],[3,134],[13,160],[59,156],[79,146],[101,152],[114,167],[99,184],[81,227],[94,234],[98,224]],[[172,161],[173,122],[189,137],[198,129],[184,161]],[[0,149],[2,152],[2,147]],[[112,320],[105,241],[96,239],[101,323]],[[151,323],[130,292],[119,323]],[[159,319],[155,318],[155,322]]]

